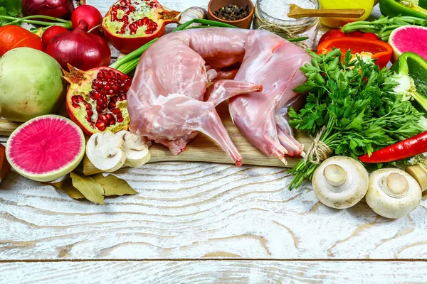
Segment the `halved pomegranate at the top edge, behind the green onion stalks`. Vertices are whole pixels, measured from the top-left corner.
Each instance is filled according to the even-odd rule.
[[[111,44],[122,53],[131,53],[154,38],[164,35],[168,23],[177,23],[178,11],[167,11],[156,0],[120,0],[102,20]]]

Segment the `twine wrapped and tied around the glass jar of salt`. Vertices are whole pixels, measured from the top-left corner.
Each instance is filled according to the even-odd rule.
[[[265,21],[265,19],[261,18],[257,13],[255,13],[255,26],[257,26],[258,30],[269,31],[285,39],[299,38],[301,33],[310,30],[310,28],[313,26],[316,26],[317,21],[313,21],[310,26],[279,26],[275,23]],[[301,41],[295,42],[295,45],[300,46],[300,48],[309,49],[308,46]]]

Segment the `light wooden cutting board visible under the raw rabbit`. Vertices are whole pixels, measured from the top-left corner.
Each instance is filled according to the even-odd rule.
[[[221,104],[217,107],[218,114],[221,116],[224,126],[228,131],[228,134],[231,137],[231,140],[238,148],[239,153],[243,156],[243,165],[267,165],[267,166],[276,166],[276,167],[288,167],[292,168],[298,163],[300,158],[286,158],[288,160],[288,165],[284,165],[277,158],[270,158],[264,155],[258,148],[255,148],[249,141],[244,138],[240,131],[234,126],[231,121],[230,114],[228,113],[227,104]],[[20,124],[16,122],[7,121],[5,119],[0,120],[0,135],[9,136],[16,127]],[[311,138],[305,136],[302,133],[296,133],[296,138],[300,143],[305,146],[305,151],[307,152],[308,147],[311,145]],[[211,163],[228,163],[233,164],[233,160],[219,147],[211,138],[205,136],[202,133],[199,133],[196,138],[194,138],[186,148],[186,151],[180,153],[179,155],[172,155],[169,149],[160,144],[154,143],[150,148],[150,153],[152,158],[148,163],[157,163],[157,162],[211,162]],[[85,175],[93,175],[95,173],[100,173],[100,170],[97,170],[90,160],[85,156],[83,160],[83,173]]]

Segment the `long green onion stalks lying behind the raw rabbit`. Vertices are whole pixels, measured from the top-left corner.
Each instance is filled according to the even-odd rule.
[[[191,26],[192,23],[200,23],[201,25],[200,26]],[[221,23],[221,22],[210,21],[210,20],[205,20],[205,19],[201,19],[201,18],[194,18],[191,21],[188,21],[188,22],[182,24],[178,28],[175,28],[174,31],[172,31],[172,33],[176,32],[176,31],[183,31],[183,30],[191,29],[191,28],[212,28],[212,27],[236,28],[235,26],[228,25],[228,23]],[[292,40],[289,40],[289,41],[300,41],[300,40],[306,40],[306,39],[307,39],[306,37],[292,38]],[[137,50],[133,51],[132,53],[129,53],[125,57],[120,58],[116,62],[112,63],[112,65],[110,65],[110,67],[114,68],[116,70],[119,70],[120,72],[123,72],[125,74],[132,72],[132,70],[135,70],[135,68],[137,67],[138,62],[139,62],[139,58],[141,57],[142,53],[144,53],[145,50],[147,50],[147,48],[149,48],[153,43],[155,43],[156,40],[157,40],[157,38],[154,38],[154,40],[150,41],[149,43],[142,45]]]

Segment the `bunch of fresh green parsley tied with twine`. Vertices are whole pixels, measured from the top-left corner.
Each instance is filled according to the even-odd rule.
[[[380,70],[372,60],[352,60],[349,51],[341,60],[339,49],[310,55],[312,65],[301,67],[307,82],[295,89],[308,93],[307,104],[298,112],[290,109],[290,126],[317,136],[330,148],[327,154],[357,158],[423,131],[422,114],[393,92],[397,83],[391,71]],[[290,189],[311,180],[319,165],[314,150],[292,168]]]

